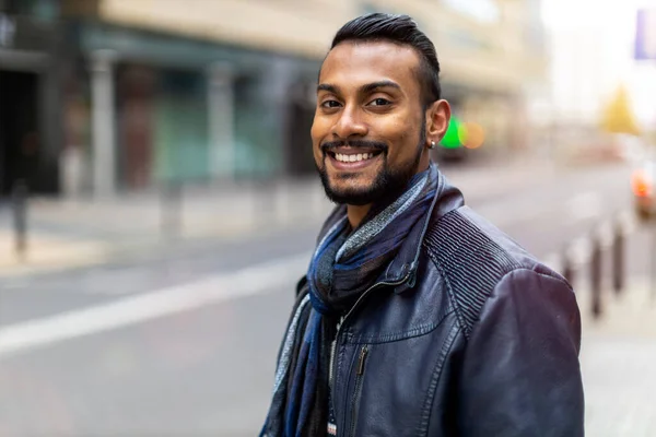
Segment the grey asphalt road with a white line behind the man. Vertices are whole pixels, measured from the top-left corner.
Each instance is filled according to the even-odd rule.
[[[622,165],[504,186],[445,168],[467,172],[481,181],[467,203],[542,258],[631,211]],[[0,436],[256,435],[318,226],[0,279]],[[629,271],[644,275],[649,234],[636,235]]]

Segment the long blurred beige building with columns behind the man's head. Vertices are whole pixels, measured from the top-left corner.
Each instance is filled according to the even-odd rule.
[[[0,103],[24,113],[0,113],[1,131],[17,126],[0,137],[3,187],[33,149],[32,186],[66,194],[312,173],[321,59],[372,11],[415,17],[485,150],[527,144],[547,74],[539,0],[0,0]]]

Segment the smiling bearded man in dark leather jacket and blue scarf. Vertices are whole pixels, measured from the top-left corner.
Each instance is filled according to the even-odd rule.
[[[263,436],[583,436],[574,293],[431,162],[450,117],[438,73],[405,15],[332,42],[312,140],[339,205],[298,283]]]

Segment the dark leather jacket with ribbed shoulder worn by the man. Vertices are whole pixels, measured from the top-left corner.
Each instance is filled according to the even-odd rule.
[[[572,287],[440,178],[338,331],[338,436],[583,436]]]

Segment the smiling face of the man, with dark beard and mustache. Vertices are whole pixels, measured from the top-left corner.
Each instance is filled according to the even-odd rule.
[[[397,196],[427,167],[419,55],[387,42],[342,43],[319,74],[312,140],[328,197],[363,205]]]

